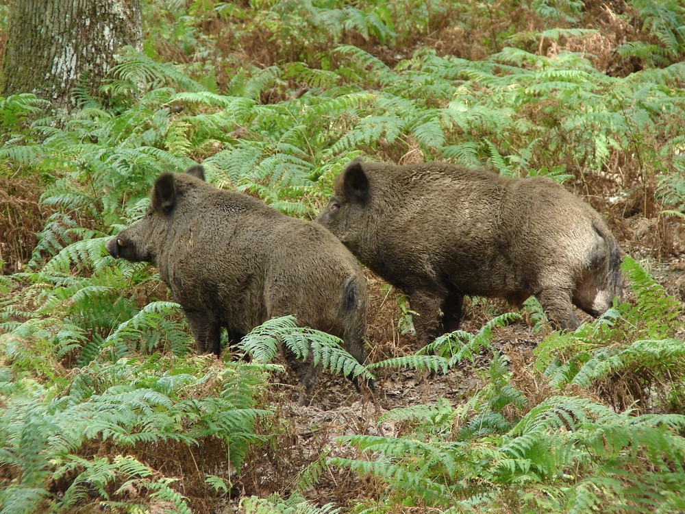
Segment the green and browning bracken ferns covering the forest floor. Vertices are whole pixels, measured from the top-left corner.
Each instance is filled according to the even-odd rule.
[[[101,96],[69,115],[0,98],[1,513],[685,511],[683,307],[645,270],[685,252],[679,2],[143,3],[144,51]],[[233,350],[250,363],[212,360],[155,270],[105,252],[164,171],[202,162],[311,218],[360,155],[564,182],[636,256],[630,302],[569,334],[531,303],[366,369],[277,319]],[[544,334],[525,365],[491,343],[511,323]],[[241,472],[284,444],[278,341],[332,373],[471,366],[480,385],[389,411],[397,437],[336,439],[259,499]],[[366,487],[306,502],[341,470]]]

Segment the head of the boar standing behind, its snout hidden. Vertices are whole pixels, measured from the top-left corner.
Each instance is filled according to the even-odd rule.
[[[369,178],[362,169],[362,161],[355,159],[336,177],[333,196],[316,221],[347,247],[357,247],[368,224],[369,201]]]

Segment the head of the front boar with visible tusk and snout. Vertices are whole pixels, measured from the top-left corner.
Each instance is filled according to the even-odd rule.
[[[205,180],[201,166],[190,167],[186,173]],[[105,249],[109,254],[132,262],[155,264],[158,248],[164,245],[169,231],[178,193],[174,173],[162,173],[152,188],[151,202],[145,216],[107,242]]]

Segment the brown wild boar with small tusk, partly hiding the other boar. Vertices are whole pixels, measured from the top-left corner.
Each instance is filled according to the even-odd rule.
[[[356,258],[318,223],[211,186],[201,166],[160,175],[147,214],[105,247],[158,268],[199,352],[219,354],[221,328],[234,343],[271,317],[295,315],[364,363],[368,299]],[[313,369],[301,376],[308,390],[317,378]]]

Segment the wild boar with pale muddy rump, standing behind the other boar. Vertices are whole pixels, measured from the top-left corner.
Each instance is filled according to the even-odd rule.
[[[318,219],[409,296],[425,345],[458,328],[464,295],[530,295],[573,330],[621,297],[621,250],[601,216],[548,178],[505,178],[441,162],[353,160]]]

